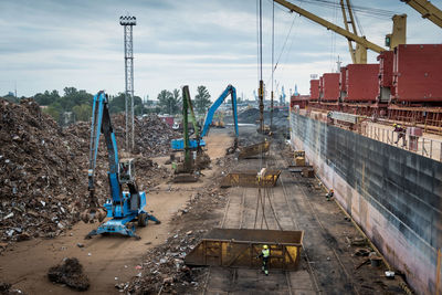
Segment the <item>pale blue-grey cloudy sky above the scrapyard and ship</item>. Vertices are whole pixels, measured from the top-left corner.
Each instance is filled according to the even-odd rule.
[[[343,27],[339,9],[312,0],[293,3]],[[338,0],[330,0],[338,2]],[[156,99],[161,89],[208,87],[212,99],[232,84],[253,99],[259,84],[259,0],[1,0],[0,95],[32,96],[66,86],[114,95],[125,91],[120,15],[135,15],[135,95]],[[407,42],[442,43],[442,30],[399,0],[352,0],[355,7],[387,10],[386,17],[357,12],[366,38],[383,45],[391,17],[408,14]],[[433,4],[442,9],[441,0]],[[272,1],[263,7],[263,81],[272,88]],[[273,88],[308,94],[311,74],[351,62],[347,40],[275,3]],[[390,15],[391,13],[391,15]],[[382,13],[383,14],[383,13]],[[376,63],[369,52],[368,62]]]

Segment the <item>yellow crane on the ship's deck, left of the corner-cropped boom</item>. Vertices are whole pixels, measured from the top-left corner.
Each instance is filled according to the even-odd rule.
[[[280,3],[281,6],[287,8],[290,11],[292,12],[296,12],[299,13],[301,15],[327,28],[327,30],[332,30],[345,38],[347,38],[347,40],[349,42],[354,41],[357,44],[359,44],[359,48],[357,46],[357,49],[355,51],[352,51],[352,46],[350,46],[350,53],[351,53],[351,59],[354,59],[355,63],[367,63],[367,50],[371,50],[373,52],[380,53],[382,51],[386,51],[386,49],[383,49],[382,46],[379,46],[370,41],[368,41],[365,36],[359,36],[356,33],[352,33],[347,29],[344,29],[339,25],[336,25],[323,18],[319,18],[318,15],[302,9],[298,6],[295,6],[288,1],[285,0],[273,0],[276,3]],[[341,3],[341,7],[344,9],[344,3]],[[345,12],[344,12],[345,14]],[[396,18],[396,17],[400,17],[400,18]],[[350,14],[351,18],[351,14]],[[386,41],[392,41],[394,40],[394,42],[386,42],[388,43],[387,45],[391,49],[393,49],[396,45],[398,44],[403,44],[406,43],[406,15],[394,15],[393,17],[393,31],[390,35],[387,35]],[[356,32],[356,30],[354,30]]]

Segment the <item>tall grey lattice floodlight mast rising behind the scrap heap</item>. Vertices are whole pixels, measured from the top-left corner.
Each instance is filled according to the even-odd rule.
[[[125,46],[125,78],[126,78],[126,150],[134,151],[134,43],[133,27],[137,24],[135,17],[119,17],[119,24],[124,27]]]

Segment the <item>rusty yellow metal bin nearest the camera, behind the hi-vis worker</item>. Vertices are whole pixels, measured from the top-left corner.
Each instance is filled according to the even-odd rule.
[[[269,266],[294,271],[299,261],[304,231],[213,229],[186,256],[187,265],[261,267],[262,245],[270,247]]]

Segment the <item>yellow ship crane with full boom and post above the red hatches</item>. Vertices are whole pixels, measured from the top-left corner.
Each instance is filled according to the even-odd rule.
[[[344,0],[340,0],[340,7],[343,10],[344,23],[345,28],[341,28],[337,24],[334,24],[305,9],[302,9],[298,6],[295,6],[285,0],[273,0],[274,2],[287,8],[291,12],[299,13],[301,15],[327,28],[327,30],[332,30],[335,33],[338,33],[345,36],[348,40],[348,45],[350,50],[351,61],[352,63],[367,63],[367,50],[371,50],[373,52],[380,53],[386,51],[385,48],[379,46],[370,41],[368,41],[365,36],[359,36],[356,31],[356,25],[354,22],[354,15],[351,11],[351,6],[349,0],[346,0],[346,4],[344,4]],[[348,19],[347,12],[348,11]],[[396,14],[392,18],[393,21],[393,30],[391,34],[386,35],[386,45],[392,50],[399,44],[406,44],[407,41],[407,14]],[[351,23],[352,32],[348,27],[348,23]],[[352,48],[352,42],[356,42],[356,49]]]

